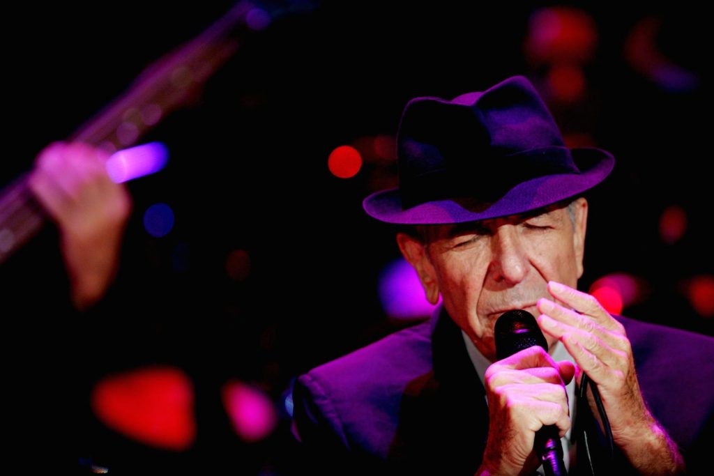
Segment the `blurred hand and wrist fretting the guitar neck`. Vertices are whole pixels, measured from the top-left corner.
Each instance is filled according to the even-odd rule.
[[[131,213],[129,192],[106,173],[107,158],[84,143],[51,143],[29,176],[31,190],[59,226],[72,300],[79,309],[101,299],[114,278]]]

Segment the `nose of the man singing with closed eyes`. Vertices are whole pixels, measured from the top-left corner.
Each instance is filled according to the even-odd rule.
[[[503,224],[491,236],[491,277],[508,286],[520,283],[528,274],[528,257],[516,226]]]

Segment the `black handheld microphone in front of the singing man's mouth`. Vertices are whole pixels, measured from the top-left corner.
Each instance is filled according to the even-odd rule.
[[[496,358],[504,359],[519,350],[540,345],[548,352],[548,341],[540,331],[535,318],[528,311],[516,309],[503,313],[496,320]],[[563,462],[563,445],[560,445],[558,427],[545,425],[535,432],[533,449],[543,463],[546,476],[567,475]]]

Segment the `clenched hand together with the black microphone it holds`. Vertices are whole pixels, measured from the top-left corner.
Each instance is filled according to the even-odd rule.
[[[509,311],[498,319],[500,360],[485,376],[490,420],[483,472],[532,472],[541,463],[537,452],[545,458],[546,474],[565,474],[558,448],[560,436],[570,428],[565,384],[575,368],[567,361],[555,363],[547,348],[538,324],[526,311]]]

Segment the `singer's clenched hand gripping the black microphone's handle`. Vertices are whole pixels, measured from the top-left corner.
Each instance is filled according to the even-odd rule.
[[[486,369],[488,440],[477,475],[530,474],[540,465],[535,432],[556,425],[562,437],[570,428],[565,385],[574,373],[572,363],[556,363],[538,346]]]

